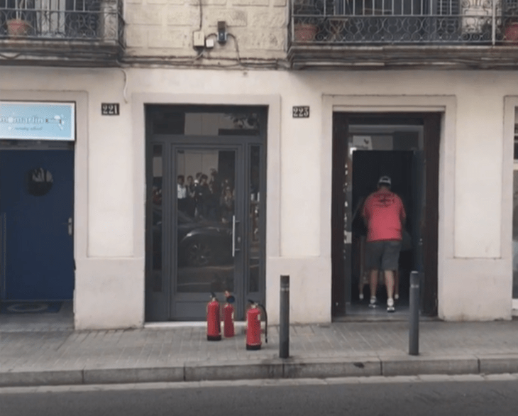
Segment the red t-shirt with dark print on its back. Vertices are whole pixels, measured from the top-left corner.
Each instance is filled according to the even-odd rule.
[[[367,219],[367,241],[401,240],[401,219],[407,217],[403,202],[394,192],[380,189],[365,200],[363,217]]]

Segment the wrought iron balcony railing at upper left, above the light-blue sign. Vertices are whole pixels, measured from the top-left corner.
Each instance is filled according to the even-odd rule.
[[[0,38],[123,45],[123,0],[0,0]]]

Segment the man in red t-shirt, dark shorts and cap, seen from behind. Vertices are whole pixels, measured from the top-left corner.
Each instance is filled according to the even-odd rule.
[[[387,312],[395,310],[394,274],[399,263],[402,228],[407,218],[401,198],[390,191],[391,185],[390,177],[380,177],[378,190],[365,200],[362,212],[368,229],[365,262],[370,268],[369,307],[376,307],[378,273],[383,270],[387,286]]]

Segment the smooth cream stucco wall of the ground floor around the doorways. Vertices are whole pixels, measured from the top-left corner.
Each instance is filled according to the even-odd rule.
[[[333,103],[349,97],[351,108],[356,102],[356,108],[363,110],[408,111],[427,105],[446,109],[447,127],[441,138],[439,317],[510,317],[512,221],[507,205],[511,189],[502,183],[512,175],[512,155],[503,148],[503,117],[504,97],[518,95],[518,75],[126,71],[126,85],[123,72],[116,69],[5,68],[0,80],[0,91],[9,89],[14,94],[18,90],[30,95],[32,90],[42,97],[45,91],[76,91],[87,97],[85,132],[78,136],[78,146],[86,154],[80,155],[84,165],[76,167],[83,179],[80,183],[87,184],[87,197],[76,207],[76,215],[85,221],[84,232],[79,229],[75,235],[78,328],[143,323],[145,161],[138,94],[160,94],[171,102],[175,97],[190,97],[199,104],[206,103],[207,94],[211,102],[222,104],[243,104],[244,94],[279,97],[280,111],[277,119],[270,119],[269,130],[278,136],[278,149],[270,142],[268,147],[266,301],[273,323],[278,319],[280,274],[292,276],[293,322],[331,319],[329,120]],[[412,104],[412,97],[421,104]],[[120,102],[121,116],[101,116],[101,102]],[[311,106],[310,118],[293,119],[293,105]],[[270,192],[277,196],[270,198]]]

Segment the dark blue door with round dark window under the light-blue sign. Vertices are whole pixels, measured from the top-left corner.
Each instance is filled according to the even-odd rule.
[[[73,150],[0,152],[4,300],[70,300]]]

